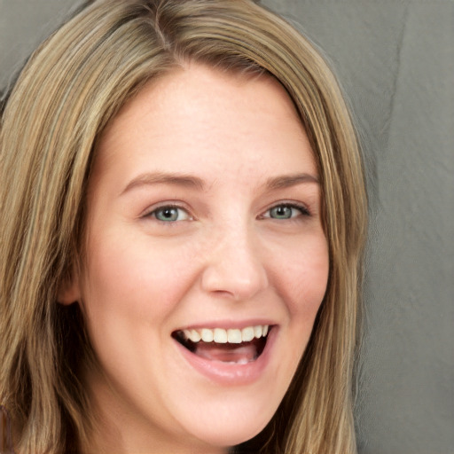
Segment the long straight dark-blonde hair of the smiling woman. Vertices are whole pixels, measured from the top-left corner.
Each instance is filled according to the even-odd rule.
[[[270,424],[238,452],[356,451],[352,372],[366,207],[356,136],[324,59],[252,0],[98,0],[35,51],[0,131],[0,403],[21,454],[74,452],[90,405],[92,361],[77,305],[57,301],[81,258],[85,192],[97,139],[150,79],[187,61],[271,74],[315,153],[330,254],[325,300]]]

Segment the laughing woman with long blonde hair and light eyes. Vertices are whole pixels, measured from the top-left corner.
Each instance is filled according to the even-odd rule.
[[[323,59],[248,0],[98,0],[3,115],[17,452],[355,452],[365,197]]]

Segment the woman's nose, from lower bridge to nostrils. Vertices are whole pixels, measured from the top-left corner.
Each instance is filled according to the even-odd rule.
[[[268,286],[266,269],[250,236],[232,231],[216,236],[201,277],[205,292],[246,301]]]

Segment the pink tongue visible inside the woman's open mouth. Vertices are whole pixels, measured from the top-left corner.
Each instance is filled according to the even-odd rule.
[[[197,343],[194,353],[210,361],[246,364],[257,357],[257,348],[253,342],[216,344],[200,341]]]

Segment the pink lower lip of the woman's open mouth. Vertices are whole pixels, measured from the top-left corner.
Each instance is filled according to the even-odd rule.
[[[197,356],[190,350],[181,345],[177,340],[176,346],[184,356],[184,359],[192,368],[200,372],[207,379],[215,381],[221,385],[248,385],[259,380],[270,363],[271,352],[276,340],[278,327],[274,326],[268,334],[265,348],[257,359],[247,364],[231,364],[222,361],[211,361],[207,358]]]

